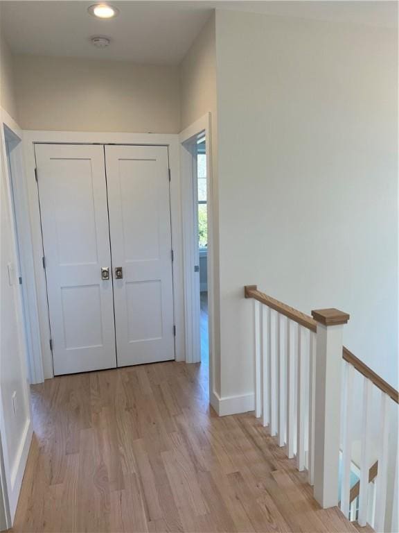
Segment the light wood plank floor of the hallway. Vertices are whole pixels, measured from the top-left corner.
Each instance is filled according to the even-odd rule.
[[[166,362],[32,387],[14,531],[356,532],[253,414],[209,409],[207,379]]]

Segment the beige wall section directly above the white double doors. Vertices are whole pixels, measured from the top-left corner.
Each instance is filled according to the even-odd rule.
[[[15,81],[26,130],[179,132],[177,67],[16,56]]]

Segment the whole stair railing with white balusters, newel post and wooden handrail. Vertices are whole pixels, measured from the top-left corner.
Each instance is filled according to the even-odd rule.
[[[398,391],[342,345],[347,313],[324,309],[308,316],[258,291],[256,285],[245,287],[245,298],[254,300],[256,418],[262,418],[278,445],[285,446],[287,457],[296,458],[299,471],[308,471],[321,507],[339,504],[350,517],[351,503],[358,498],[360,525],[372,515],[371,525],[385,531],[389,403],[398,405]],[[364,386],[360,480],[351,487],[355,371],[362,374]],[[376,394],[372,389],[380,394],[380,442],[378,461],[370,464],[371,398]],[[378,489],[373,498],[371,482],[377,482]]]

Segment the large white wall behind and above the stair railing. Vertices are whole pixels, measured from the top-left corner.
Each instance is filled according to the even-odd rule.
[[[351,314],[398,386],[396,33],[216,12],[222,396],[254,390],[251,302]]]

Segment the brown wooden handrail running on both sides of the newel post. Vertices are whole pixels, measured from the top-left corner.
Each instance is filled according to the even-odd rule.
[[[311,316],[308,316],[308,314],[302,313],[301,311],[294,309],[294,307],[290,307],[290,305],[286,305],[285,303],[282,303],[271,296],[267,296],[267,294],[264,292],[258,291],[258,287],[256,285],[245,286],[245,298],[254,298],[258,302],[271,307],[284,316],[287,316],[287,318],[303,325],[305,328],[308,328],[308,330],[316,332],[317,321],[312,319]],[[364,362],[360,361],[360,359],[353,355],[353,353],[351,353],[348,348],[345,348],[345,346],[342,349],[342,357],[358,372],[364,375],[365,378],[370,380],[375,387],[378,387],[380,391],[387,394],[394,402],[399,403],[398,391],[393,389],[390,384],[380,378],[378,374],[373,372],[369,366],[364,364]]]

